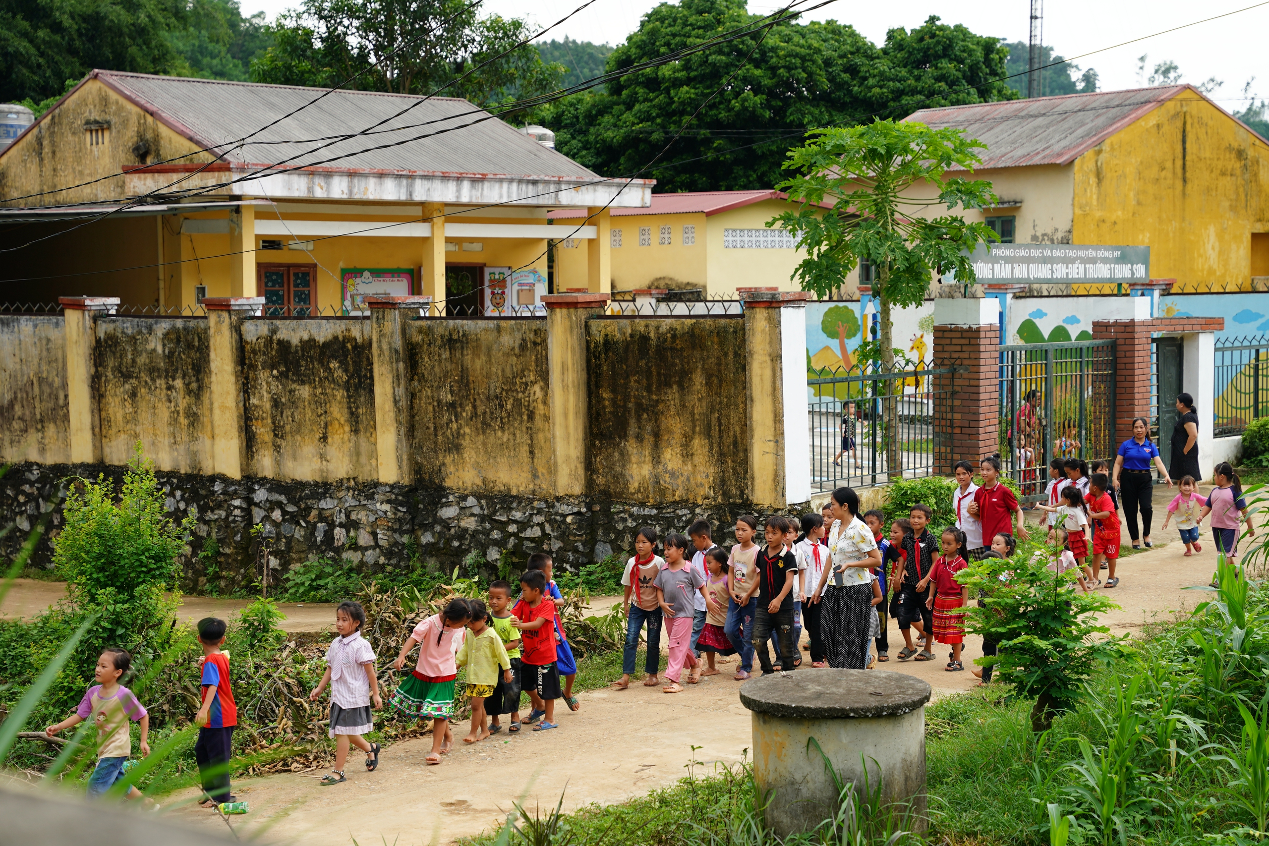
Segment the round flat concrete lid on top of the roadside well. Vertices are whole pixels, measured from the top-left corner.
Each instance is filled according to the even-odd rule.
[[[745,682],[745,708],[792,719],[893,717],[930,700],[920,679],[883,670],[810,670],[772,674]]]

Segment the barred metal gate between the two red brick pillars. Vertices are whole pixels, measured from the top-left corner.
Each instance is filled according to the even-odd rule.
[[[1000,348],[1000,460],[1024,501],[1053,458],[1114,455],[1114,341]]]

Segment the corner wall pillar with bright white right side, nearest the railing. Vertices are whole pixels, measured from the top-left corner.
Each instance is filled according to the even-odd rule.
[[[783,509],[811,498],[806,301],[801,290],[740,292],[745,303],[749,495]]]

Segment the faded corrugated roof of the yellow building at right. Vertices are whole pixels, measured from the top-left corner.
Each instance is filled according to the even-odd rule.
[[[964,129],[987,146],[978,167],[1067,165],[1190,85],[921,109],[905,120]],[[1202,95],[1200,95],[1202,96]]]

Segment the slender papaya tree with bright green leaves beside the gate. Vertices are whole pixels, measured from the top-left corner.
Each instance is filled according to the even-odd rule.
[[[924,123],[877,120],[863,127],[816,129],[789,151],[784,167],[794,175],[777,185],[796,209],[768,222],[798,237],[806,257],[793,278],[803,290],[825,297],[836,290],[862,260],[877,266],[873,296],[878,303],[877,356],[895,368],[891,309],[919,306],[933,274],[956,273],[973,282],[968,254],[996,235],[985,223],[956,214],[928,216],[934,207],[983,208],[996,202],[991,183],[948,176],[952,167],[973,170],[985,147],[959,129],[931,129]],[[830,204],[825,211],[822,207]],[[886,420],[897,419],[887,393]],[[896,438],[886,438],[891,476],[902,472]]]

